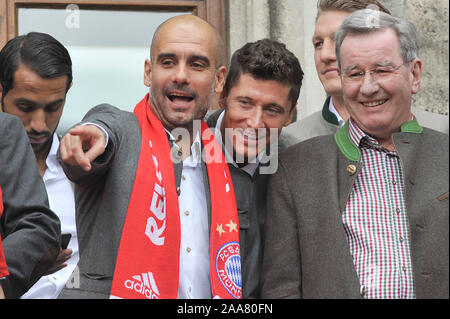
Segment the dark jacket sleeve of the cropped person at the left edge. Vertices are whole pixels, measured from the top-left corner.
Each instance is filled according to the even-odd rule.
[[[0,220],[10,275],[1,281],[7,298],[19,298],[52,265],[59,251],[58,217],[48,208],[47,192],[22,122],[0,112]]]

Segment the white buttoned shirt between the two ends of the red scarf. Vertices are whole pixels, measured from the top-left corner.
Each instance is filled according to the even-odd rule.
[[[174,141],[174,137],[169,133]],[[175,148],[178,146],[174,143]],[[199,132],[191,155],[183,161],[178,205],[180,209],[179,299],[211,298],[209,275],[209,225],[201,164]]]

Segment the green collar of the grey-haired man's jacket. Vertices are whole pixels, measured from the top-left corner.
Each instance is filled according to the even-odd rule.
[[[348,121],[345,125],[334,134],[334,140],[339,147],[342,154],[353,162],[359,162],[361,159],[361,151],[359,147],[353,143],[348,132]],[[421,134],[423,128],[419,125],[416,119],[405,122],[401,127],[402,133]]]

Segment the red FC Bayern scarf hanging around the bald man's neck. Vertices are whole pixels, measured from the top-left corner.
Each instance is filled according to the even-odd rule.
[[[179,280],[180,214],[169,141],[150,108],[148,94],[134,113],[141,126],[141,153],[111,298],[174,299]],[[211,292],[214,297],[241,298],[239,221],[233,183],[222,149],[203,121],[201,133],[211,193]]]

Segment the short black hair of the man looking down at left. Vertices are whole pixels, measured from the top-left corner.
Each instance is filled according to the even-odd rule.
[[[30,32],[8,41],[0,51],[0,83],[3,98],[14,85],[14,74],[24,65],[45,79],[67,76],[67,90],[72,83],[72,60],[67,49],[55,38]]]

